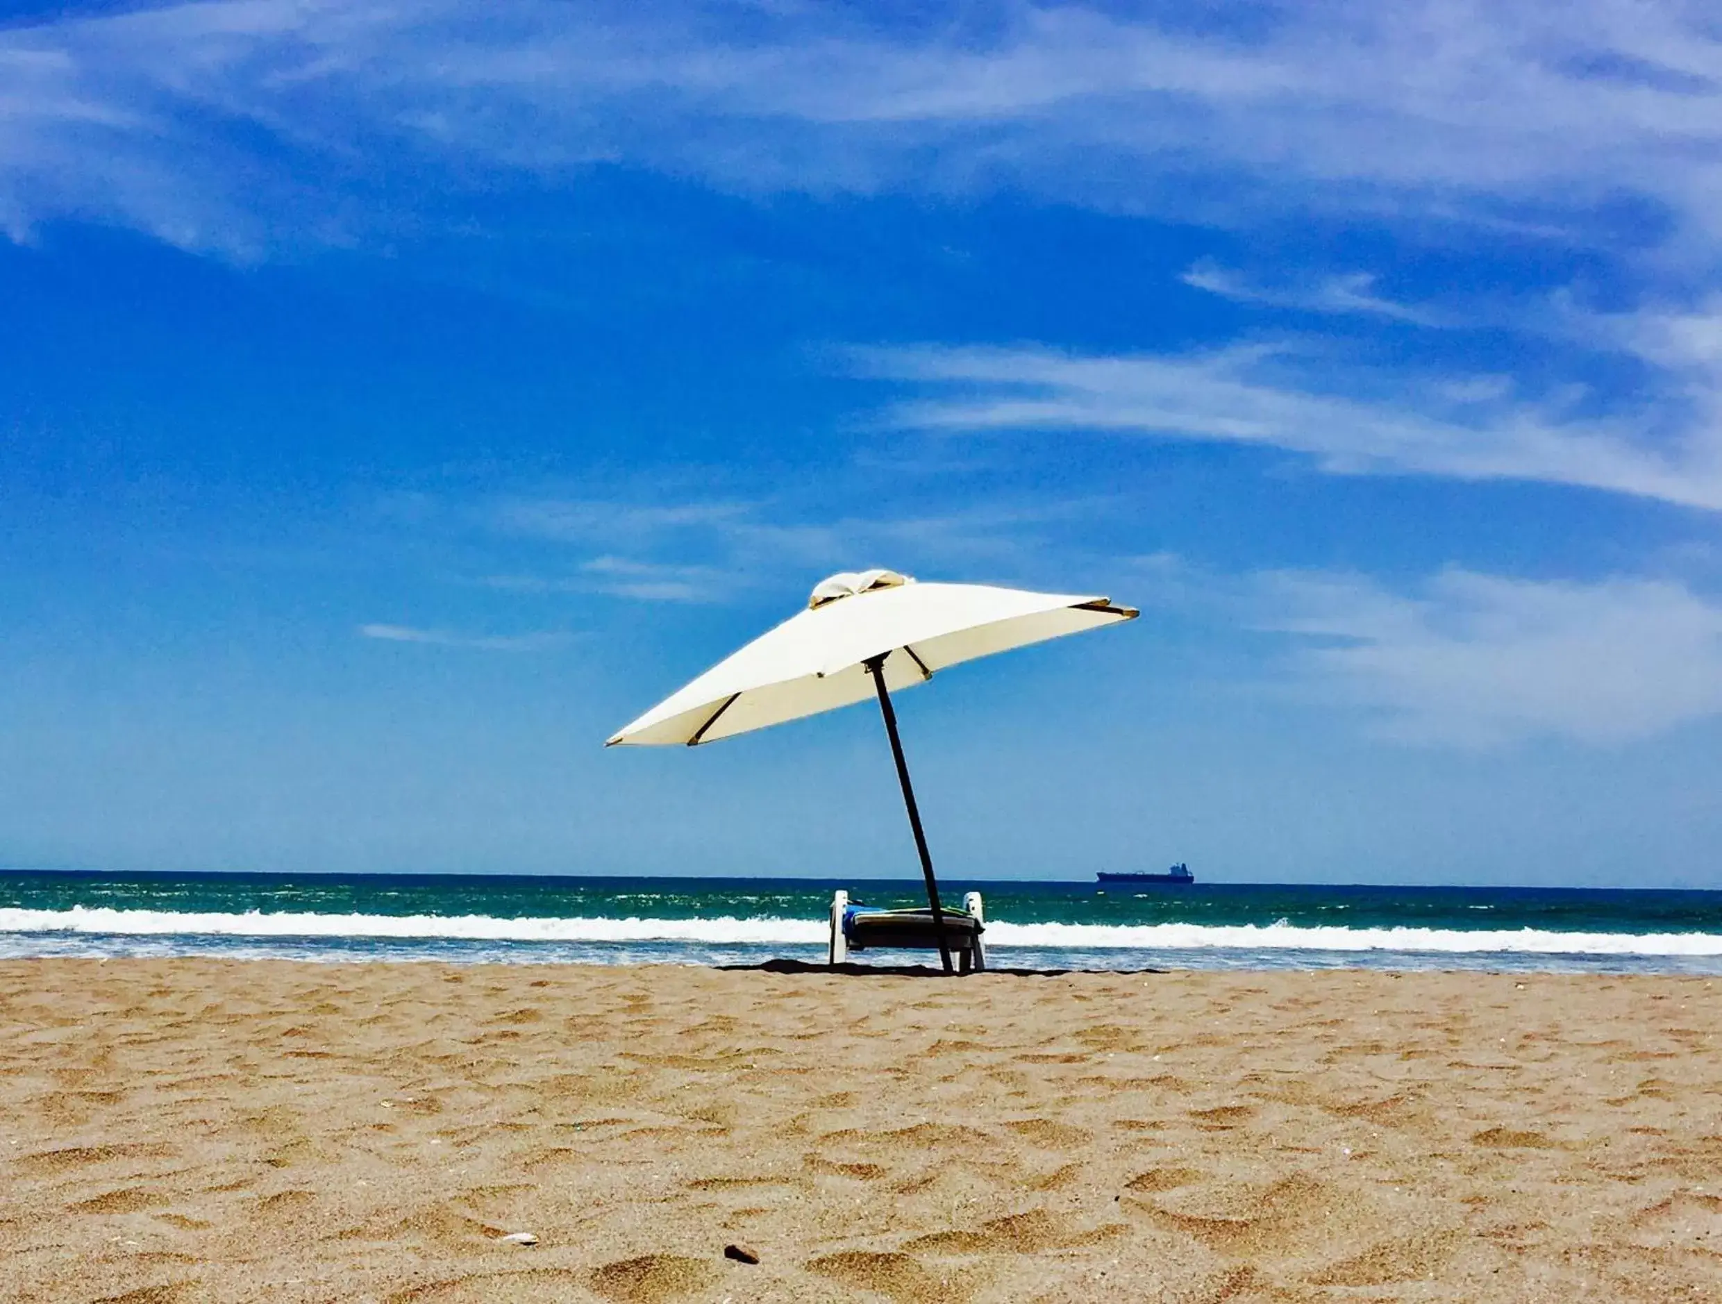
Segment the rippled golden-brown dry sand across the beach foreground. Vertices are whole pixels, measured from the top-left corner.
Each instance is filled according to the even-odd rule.
[[[0,1299],[1722,1301],[1719,996],[3,963]]]

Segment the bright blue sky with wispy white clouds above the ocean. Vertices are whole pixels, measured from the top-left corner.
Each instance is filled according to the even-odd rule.
[[[1722,887],[1703,7],[0,14],[0,861]]]

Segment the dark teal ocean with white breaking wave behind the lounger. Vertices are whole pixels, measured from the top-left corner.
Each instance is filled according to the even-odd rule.
[[[751,965],[821,961],[832,891],[918,880],[0,873],[0,958]],[[1722,892],[949,882],[995,968],[1474,968],[1722,973]],[[870,953],[918,963],[914,953]]]

